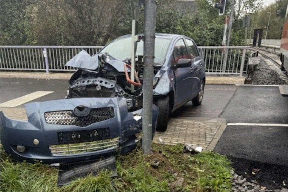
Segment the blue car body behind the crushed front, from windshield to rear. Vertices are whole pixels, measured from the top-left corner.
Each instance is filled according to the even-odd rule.
[[[116,38],[99,54],[129,62],[131,35]],[[143,38],[137,43],[136,67],[143,74]],[[156,34],[153,79],[153,102],[159,107],[157,130],[167,129],[169,114],[188,101],[200,105],[205,86],[205,63],[196,43],[184,35]]]

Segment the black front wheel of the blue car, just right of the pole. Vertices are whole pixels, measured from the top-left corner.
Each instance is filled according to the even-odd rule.
[[[169,96],[157,99],[156,103],[159,107],[156,130],[166,131],[169,120]]]

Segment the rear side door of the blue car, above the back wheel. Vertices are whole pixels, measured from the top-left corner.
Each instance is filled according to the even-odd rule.
[[[186,38],[188,54],[191,57],[191,75],[192,75],[192,93],[191,96],[195,97],[198,94],[200,82],[202,80],[203,62],[200,58],[197,47],[191,39]]]

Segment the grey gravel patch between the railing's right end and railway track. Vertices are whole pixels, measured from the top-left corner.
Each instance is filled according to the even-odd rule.
[[[285,84],[285,81],[279,77],[279,74],[270,68],[270,66],[262,59],[259,65],[252,67],[248,71],[251,71],[245,84],[261,84],[261,85],[278,85]]]

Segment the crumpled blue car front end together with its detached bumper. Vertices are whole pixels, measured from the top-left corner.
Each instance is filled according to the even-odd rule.
[[[66,65],[78,68],[69,80],[66,99],[25,104],[28,121],[10,119],[1,111],[5,151],[19,161],[51,164],[134,149],[142,131],[142,80],[129,81],[131,66],[111,55],[90,56],[86,51]],[[157,111],[153,105],[152,134]]]

